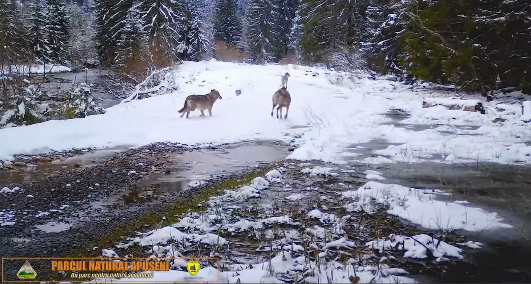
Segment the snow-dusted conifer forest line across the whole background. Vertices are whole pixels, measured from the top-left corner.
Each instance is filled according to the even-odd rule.
[[[74,15],[72,4],[85,8]],[[524,0],[0,0],[0,31],[2,62],[93,56],[145,75],[211,58],[223,41],[256,64],[294,57],[483,94],[531,92]]]

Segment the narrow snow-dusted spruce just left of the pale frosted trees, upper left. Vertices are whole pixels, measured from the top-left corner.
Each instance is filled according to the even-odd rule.
[[[67,43],[70,27],[63,0],[48,0],[48,33],[52,53],[50,59],[63,63],[67,59]],[[88,27],[87,27],[88,28]]]

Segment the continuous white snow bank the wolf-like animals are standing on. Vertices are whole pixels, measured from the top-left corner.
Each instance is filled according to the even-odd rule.
[[[271,95],[286,71],[291,75],[289,116],[272,119]],[[355,153],[346,154],[349,146],[383,138],[398,145],[375,150],[378,158],[360,156],[359,161],[531,161],[531,146],[525,143],[531,138],[531,124],[520,120],[519,104],[483,102],[485,115],[440,105],[422,108],[424,97],[448,95],[431,87],[419,90],[385,79],[351,80],[347,73],[293,65],[186,62],[177,72],[182,87],[172,94],[119,104],[106,114],[85,119],[2,129],[0,159],[73,147],[140,146],[158,141],[189,145],[249,139],[289,142],[303,135],[295,139],[298,148],[290,158],[342,163],[357,158]],[[187,95],[206,94],[212,88],[223,97],[215,103],[212,118],[200,118],[199,112],[191,113],[190,119],[179,118],[177,111]],[[238,89],[242,94],[236,96]],[[390,109],[404,110],[410,116],[397,123],[386,116]],[[493,122],[496,118],[505,121]],[[429,129],[407,125],[429,125]]]

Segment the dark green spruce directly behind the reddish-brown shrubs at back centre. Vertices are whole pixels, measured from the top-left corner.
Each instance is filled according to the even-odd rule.
[[[242,21],[234,0],[220,0],[215,13],[214,34],[217,40],[235,45],[242,38]]]

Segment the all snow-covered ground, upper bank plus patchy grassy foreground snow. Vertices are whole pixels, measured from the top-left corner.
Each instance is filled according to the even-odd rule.
[[[288,119],[278,120],[270,117],[271,95],[280,88],[280,76],[286,71],[291,75],[288,90],[292,105]],[[450,110],[444,105],[468,106],[477,101],[450,98],[448,94],[436,92],[430,85],[406,86],[383,78],[373,80],[292,65],[186,62],[178,67],[177,72],[175,76],[182,79],[182,87],[171,94],[119,104],[107,109],[106,114],[84,119],[54,120],[1,129],[0,160],[52,149],[141,146],[160,141],[205,146],[271,139],[294,144],[297,148],[288,157],[292,160],[314,159],[330,163],[327,166],[298,164],[296,172],[307,179],[336,178],[341,174],[355,173],[356,168],[345,165],[347,161],[364,164],[531,162],[531,146],[526,144],[531,140],[531,123],[521,121],[525,117],[517,103],[482,101],[486,114]],[[202,118],[199,112],[192,112],[190,119],[179,118],[177,111],[182,108],[187,95],[206,94],[213,88],[223,99],[215,103],[212,117]],[[241,90],[241,95],[236,95],[236,90]],[[423,100],[442,105],[422,108]],[[391,109],[400,109],[404,118],[393,119],[388,115]],[[363,154],[366,150],[356,146],[373,139],[384,139],[392,145],[371,150],[374,156]],[[329,166],[333,164],[333,167]],[[222,263],[225,268],[220,273],[219,282],[222,283],[299,282],[302,278],[315,283],[349,283],[354,280],[359,283],[408,283],[414,280],[404,277],[407,271],[389,265],[390,259],[359,265],[359,258],[371,258],[373,252],[400,247],[395,253],[401,257],[433,258],[441,262],[463,259],[463,248],[478,249],[481,244],[470,241],[450,244],[426,234],[393,234],[355,243],[352,236],[346,234],[346,227],[359,232],[369,228],[357,224],[353,216],[359,212],[376,214],[377,209],[383,207],[387,214],[425,229],[480,232],[512,227],[494,212],[469,206],[464,200],[445,199],[446,192],[385,184],[383,181],[388,181],[387,177],[376,171],[359,173],[367,180],[361,187],[335,184],[337,188],[325,191],[327,194],[319,188],[301,189],[285,183],[282,180],[284,171],[286,168],[278,168],[257,177],[247,186],[226,189],[224,195],[210,199],[207,211],[190,213],[178,224],[143,233],[114,249],[145,246],[150,247],[150,254],[158,257],[186,256],[185,251],[194,246],[201,246],[210,256],[218,256],[221,249],[236,252],[233,247],[238,242],[229,236],[221,236],[219,232],[222,231],[230,236],[240,234],[244,239],[245,236],[269,239],[270,244],[259,246],[256,252],[280,251],[267,260],[244,261],[240,258],[245,264]],[[6,190],[3,194],[11,194],[9,192]],[[265,198],[267,192],[274,193]],[[249,200],[254,201],[249,203]],[[292,209],[300,210],[275,210],[271,202],[279,200],[282,206],[291,205]],[[316,209],[315,204],[320,202],[328,202],[328,206]],[[336,211],[329,209],[332,207]],[[250,212],[250,208],[258,208],[260,213],[252,218],[233,214],[235,211]],[[338,216],[338,208],[352,215]],[[302,214],[302,218],[297,220],[294,217],[297,214]],[[7,217],[6,214],[0,222],[10,224],[11,219]],[[301,226],[300,219],[311,219],[315,224]],[[282,230],[286,229],[285,226],[299,230],[275,232],[282,226]],[[256,234],[262,235],[258,237]],[[305,256],[308,249],[303,244],[312,248],[315,258]],[[347,251],[354,246],[365,254],[349,254]],[[104,256],[109,255],[116,253],[104,252]],[[182,269],[184,264],[176,262],[174,265]],[[205,281],[213,282],[211,267],[200,273],[203,274],[199,276],[208,278]],[[150,280],[178,281],[186,277],[189,277],[186,271],[169,271],[156,273],[156,278]],[[101,283],[103,280],[95,281]]]

